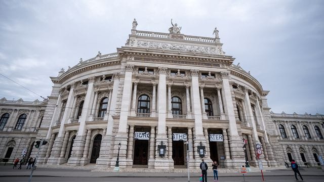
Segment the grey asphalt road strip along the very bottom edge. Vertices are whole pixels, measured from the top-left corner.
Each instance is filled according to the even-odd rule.
[[[303,176],[304,181],[324,181],[324,176]],[[28,176],[16,176],[16,177],[0,177],[0,181],[8,181],[8,182],[26,182],[28,181]],[[32,180],[34,182],[174,182],[174,181],[188,181],[188,178],[185,177],[48,177],[48,176],[34,176]],[[197,182],[198,177],[191,177],[190,181]],[[208,182],[213,182],[213,177],[208,178]],[[221,177],[219,178],[219,182],[221,181],[235,181],[235,182],[243,182],[244,179],[242,176],[233,176],[233,177]],[[262,181],[261,176],[246,176],[246,182],[253,182],[253,181]],[[293,175],[289,176],[266,176],[265,181],[278,181],[278,182],[290,182],[296,181]],[[300,180],[301,181],[301,180]]]

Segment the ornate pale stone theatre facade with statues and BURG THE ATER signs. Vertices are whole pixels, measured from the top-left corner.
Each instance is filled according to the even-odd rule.
[[[41,146],[40,164],[109,168],[118,157],[120,169],[198,168],[201,159],[233,168],[246,161],[257,166],[259,144],[264,166],[284,166],[288,158],[281,142],[295,140],[290,133],[287,140],[280,138],[278,118],[272,119],[267,104],[269,91],[232,64],[216,28],[210,38],[181,34],[177,24],[170,33],[136,26],[134,19],[129,39],[116,53],[80,59],[51,77],[54,86],[42,122],[13,156],[27,148],[35,157],[33,142],[42,138],[49,143]],[[2,116],[8,113],[4,109]],[[312,120],[319,132],[321,117]],[[17,140],[4,136],[11,131],[22,132],[1,131],[3,158],[8,142]],[[322,138],[298,141],[323,155]],[[298,153],[297,147],[292,150]],[[307,160],[314,162],[311,157]]]

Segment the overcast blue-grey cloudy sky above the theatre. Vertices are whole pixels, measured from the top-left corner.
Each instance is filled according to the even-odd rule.
[[[158,3],[160,2],[160,3]],[[125,45],[138,30],[213,37],[270,90],[275,113],[324,114],[324,1],[0,0],[0,73],[50,96],[63,67]],[[0,75],[0,98],[43,100]]]

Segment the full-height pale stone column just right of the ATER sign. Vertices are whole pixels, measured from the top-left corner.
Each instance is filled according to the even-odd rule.
[[[224,107],[226,108],[226,114],[228,116],[229,126],[229,147],[231,149],[231,158],[233,160],[232,165],[240,166],[239,162],[245,162],[245,153],[243,150],[242,139],[238,135],[237,125],[234,114],[234,105],[232,92],[229,85],[229,72],[222,72],[222,96],[224,97]]]

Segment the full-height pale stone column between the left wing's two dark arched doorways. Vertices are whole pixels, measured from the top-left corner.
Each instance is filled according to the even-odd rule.
[[[82,109],[82,115],[79,118],[79,128],[74,139],[71,156],[68,160],[68,164],[70,165],[80,164],[83,157],[86,140],[86,121],[89,120],[89,116],[91,115],[91,110],[89,108],[92,108],[92,102],[94,101],[95,97],[94,80],[95,77],[89,77],[88,89]]]

